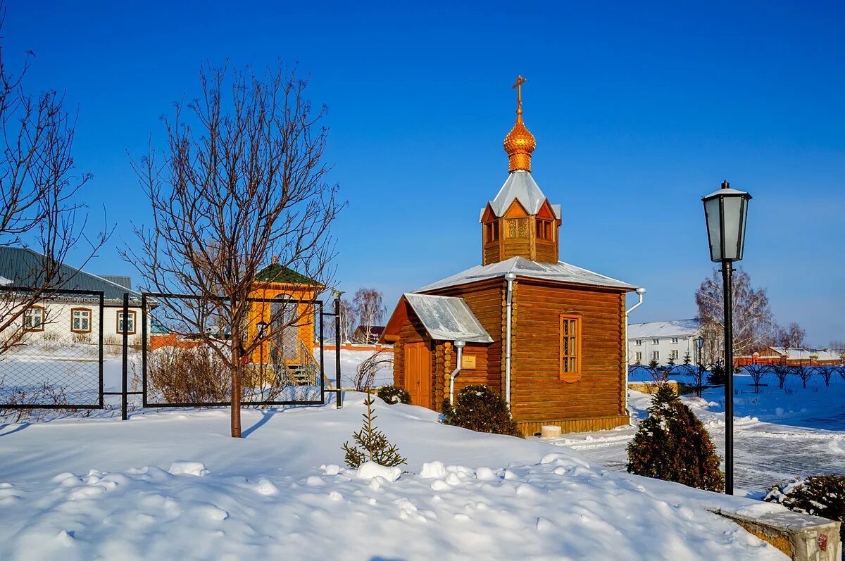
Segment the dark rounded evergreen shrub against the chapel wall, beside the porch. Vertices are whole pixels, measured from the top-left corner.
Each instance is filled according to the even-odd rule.
[[[518,436],[522,433],[510,418],[502,396],[485,384],[472,384],[461,389],[455,406],[443,402],[444,424],[469,428],[479,433],[497,433]]]

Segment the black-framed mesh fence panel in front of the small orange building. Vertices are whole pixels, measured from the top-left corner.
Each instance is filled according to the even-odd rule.
[[[144,407],[232,404],[228,364],[235,349],[232,326],[215,313],[221,301],[226,302],[186,294],[143,294]],[[249,320],[240,330],[246,344],[239,349],[245,351],[242,405],[323,405],[326,394],[335,393],[341,406],[340,355],[335,355],[332,381],[325,373],[323,345],[324,318],[335,313],[326,312],[322,300],[250,298],[248,305]],[[336,308],[335,304],[335,312]],[[293,317],[299,319],[290,325]]]

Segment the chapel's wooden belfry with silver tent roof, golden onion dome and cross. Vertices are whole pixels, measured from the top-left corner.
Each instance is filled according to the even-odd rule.
[[[510,161],[510,177],[496,198],[482,210],[482,264],[524,257],[546,263],[558,262],[559,207],[548,203],[531,175],[531,155],[537,140],[522,122],[522,84],[516,89],[516,123],[504,137]]]

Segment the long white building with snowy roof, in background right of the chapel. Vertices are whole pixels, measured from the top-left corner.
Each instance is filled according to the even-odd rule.
[[[628,325],[628,364],[648,364],[657,361],[665,366],[670,360],[683,364],[689,354],[690,362],[699,361],[695,339],[701,335],[699,319],[650,321]]]

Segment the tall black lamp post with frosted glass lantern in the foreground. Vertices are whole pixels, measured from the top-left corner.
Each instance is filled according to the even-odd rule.
[[[710,193],[704,203],[710,259],[722,264],[725,330],[725,493],[733,494],[733,262],[741,261],[748,219],[749,193],[722,188]]]

